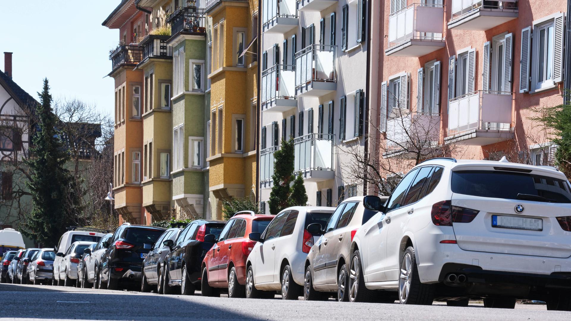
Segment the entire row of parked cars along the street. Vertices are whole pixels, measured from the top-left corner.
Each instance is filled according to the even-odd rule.
[[[169,229],[126,223],[96,241],[62,236],[69,247],[55,250],[53,279],[231,298],[450,306],[483,299],[498,308],[530,299],[571,311],[570,210],[571,184],[553,167],[434,158],[404,175],[388,197],[277,215],[243,211],[227,222],[198,219]],[[47,266],[50,251],[9,252],[3,264],[10,279],[43,278],[33,262]],[[27,269],[18,265],[26,260]]]

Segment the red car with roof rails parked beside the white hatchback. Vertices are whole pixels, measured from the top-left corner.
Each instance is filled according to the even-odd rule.
[[[274,215],[242,211],[228,220],[202,262],[203,296],[220,296],[222,288],[228,288],[230,298],[246,296],[246,259],[256,244],[248,235],[264,232],[272,219]]]

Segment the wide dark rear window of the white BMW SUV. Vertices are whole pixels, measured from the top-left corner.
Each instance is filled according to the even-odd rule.
[[[520,172],[453,171],[452,192],[490,198],[531,199],[552,203],[571,203],[569,184],[565,180]]]

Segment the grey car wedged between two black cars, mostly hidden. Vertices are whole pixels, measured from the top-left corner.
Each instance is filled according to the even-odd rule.
[[[164,231],[163,235],[160,235],[160,238],[156,240],[146,258],[143,259],[141,292],[149,292],[151,288],[156,288],[157,292],[158,290],[162,290],[162,288],[158,286],[159,262],[164,262],[170,251],[170,248],[164,245],[163,242],[165,240],[172,240],[174,242],[183,230],[183,227],[173,227]]]

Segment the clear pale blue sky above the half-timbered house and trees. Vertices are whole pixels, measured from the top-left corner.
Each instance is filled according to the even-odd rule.
[[[78,98],[113,112],[114,82],[108,52],[118,30],[101,23],[120,0],[0,0],[0,70],[13,52],[13,79],[34,98],[42,79],[54,99]]]

